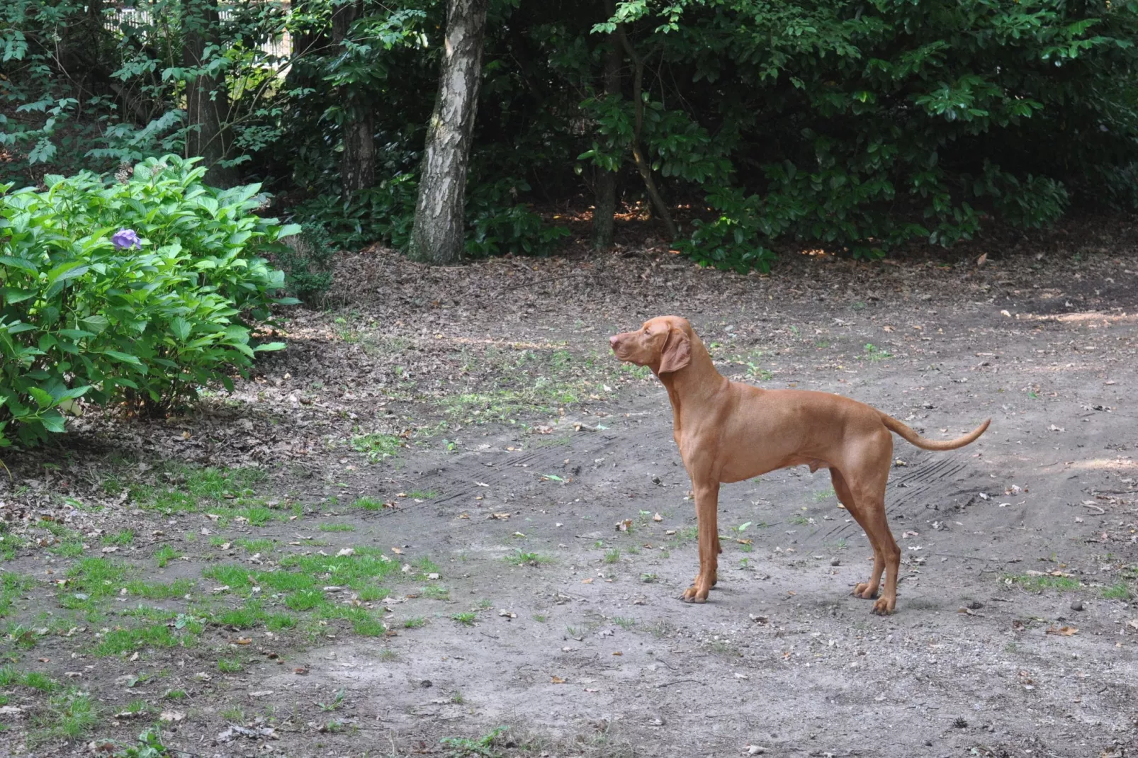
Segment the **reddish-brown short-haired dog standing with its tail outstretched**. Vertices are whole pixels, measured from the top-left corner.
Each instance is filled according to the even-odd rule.
[[[702,603],[716,583],[719,484],[742,481],[789,465],[828,468],[838,499],[873,545],[873,575],[853,594],[877,595],[873,612],[892,613],[901,551],[885,522],[885,483],[893,456],[890,431],[925,450],[955,450],[984,432],[991,419],[958,439],[925,439],[897,419],[864,403],[828,393],[759,389],[716,371],[686,319],[660,316],[609,338],[621,361],[646,365],[660,378],[679,456],[692,478],[699,524],[700,572],[683,600]]]

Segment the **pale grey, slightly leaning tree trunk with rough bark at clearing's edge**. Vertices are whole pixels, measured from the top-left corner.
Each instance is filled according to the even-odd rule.
[[[483,73],[483,34],[489,0],[448,0],[446,39],[435,110],[427,126],[407,257],[454,263],[462,257],[467,165]]]

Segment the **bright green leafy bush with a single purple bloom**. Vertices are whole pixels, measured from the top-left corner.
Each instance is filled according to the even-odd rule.
[[[63,431],[80,397],[162,411],[232,388],[256,352],[283,347],[250,339],[273,304],[296,302],[275,296],[283,273],[256,254],[299,226],[254,215],[255,184],[205,187],[193,163],[0,186],[0,445]]]

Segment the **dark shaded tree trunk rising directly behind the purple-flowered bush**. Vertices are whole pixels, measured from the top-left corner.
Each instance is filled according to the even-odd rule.
[[[182,0],[182,64],[197,68],[205,60],[208,44],[220,40],[221,18],[216,0]],[[195,76],[185,85],[185,153],[201,156],[206,172],[206,183],[215,187],[233,187],[237,172],[232,167],[218,165],[226,157],[229,130],[229,94],[225,91],[225,75],[218,73]]]

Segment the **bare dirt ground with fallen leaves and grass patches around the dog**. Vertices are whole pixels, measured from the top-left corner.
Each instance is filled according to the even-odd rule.
[[[1136,239],[347,257],[232,395],[5,452],[0,755],[146,756],[149,724],[178,756],[1138,755]],[[667,395],[607,343],[665,313],[740,380],[992,418],[896,442],[896,615],[805,468],[723,488],[719,585],[677,600]]]

